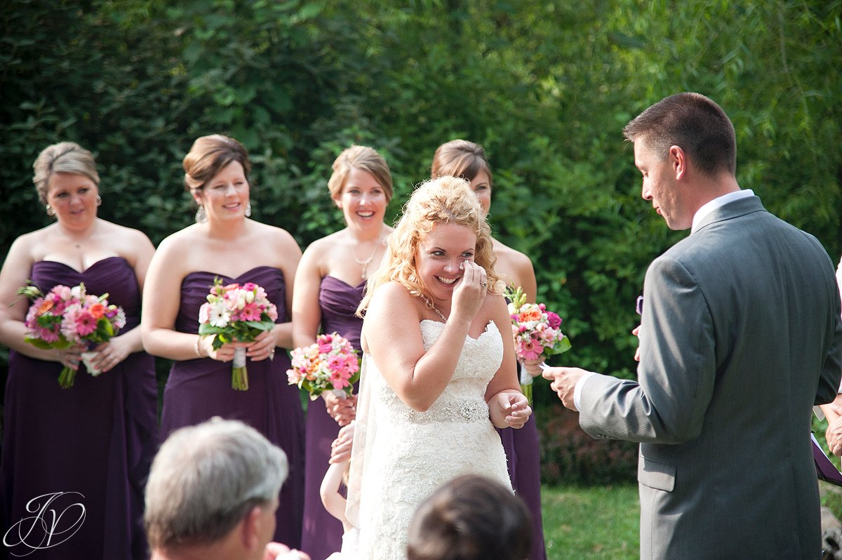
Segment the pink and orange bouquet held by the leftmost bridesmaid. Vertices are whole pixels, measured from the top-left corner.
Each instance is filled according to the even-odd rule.
[[[75,344],[87,344],[91,348],[108,342],[125,327],[123,308],[109,305],[108,294],[91,296],[84,284],[72,288],[56,285],[43,295],[34,285],[18,290],[31,300],[24,325],[29,329],[24,340],[43,349],[67,349]],[[83,360],[92,376],[99,371],[90,365],[92,353],[83,352]],[[87,355],[87,356],[86,356]],[[65,366],[58,376],[62,388],[73,387],[76,371]]]

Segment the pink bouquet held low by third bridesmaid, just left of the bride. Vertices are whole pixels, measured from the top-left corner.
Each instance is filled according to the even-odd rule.
[[[309,392],[310,400],[325,391],[345,397],[360,379],[360,360],[354,346],[337,333],[319,334],[315,344],[292,350],[292,367],[286,376],[290,385]]]

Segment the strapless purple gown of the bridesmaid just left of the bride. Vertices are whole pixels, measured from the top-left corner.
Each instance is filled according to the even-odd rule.
[[[363,320],[355,317],[357,306],[363,299],[365,280],[349,285],[333,276],[325,276],[319,288],[319,307],[322,309],[322,331],[336,331],[360,350],[360,330]],[[354,386],[354,392],[359,389]],[[321,398],[307,408],[306,420],[306,475],[304,483],[304,532],[301,550],[312,560],[324,560],[342,547],[342,523],[330,515],[322,505],[319,487],[328,472],[330,444],[336,439],[339,425],[324,408]]]

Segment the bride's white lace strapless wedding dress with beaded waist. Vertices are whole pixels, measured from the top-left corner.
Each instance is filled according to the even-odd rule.
[[[424,319],[424,349],[445,323]],[[363,356],[348,515],[360,527],[360,558],[403,560],[418,504],[461,474],[492,477],[511,488],[500,438],[488,419],[485,391],[503,361],[503,340],[489,322],[466,337],[453,377],[427,412],[409,408]]]

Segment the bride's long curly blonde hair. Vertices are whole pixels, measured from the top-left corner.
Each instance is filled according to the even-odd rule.
[[[494,271],[497,257],[493,251],[491,228],[482,214],[477,195],[465,179],[445,175],[419,184],[403,206],[401,220],[388,237],[383,261],[365,284],[365,297],[357,308],[358,316],[362,317],[376,289],[386,282],[399,282],[413,296],[429,298],[424,280],[418,277],[415,259],[418,243],[439,223],[465,226],[477,234],[474,261],[486,270],[488,292],[503,293],[504,282]]]

